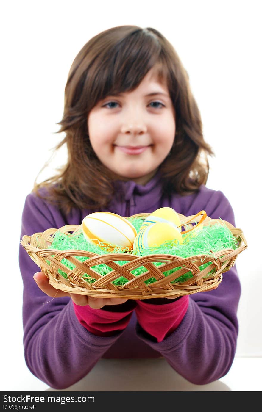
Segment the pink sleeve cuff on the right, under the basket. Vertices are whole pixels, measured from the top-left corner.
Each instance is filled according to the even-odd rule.
[[[182,322],[189,304],[189,295],[182,296],[166,304],[151,304],[137,300],[135,309],[137,321],[149,335],[162,342]]]

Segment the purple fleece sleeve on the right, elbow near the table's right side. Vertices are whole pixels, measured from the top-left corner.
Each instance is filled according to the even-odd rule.
[[[213,191],[212,191],[213,192]],[[205,201],[207,203],[205,203]],[[193,201],[185,215],[205,210],[235,226],[229,201],[220,191]],[[137,335],[160,352],[180,375],[194,384],[220,379],[230,369],[238,335],[237,308],[241,294],[236,265],[223,274],[217,289],[189,295],[189,307],[178,328],[156,342],[137,323]]]

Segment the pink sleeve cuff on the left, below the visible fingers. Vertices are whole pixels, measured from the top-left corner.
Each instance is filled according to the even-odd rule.
[[[73,302],[78,321],[97,336],[112,336],[124,330],[135,306],[134,301],[127,301],[120,305],[105,306],[105,309],[92,309],[89,305],[79,306]]]

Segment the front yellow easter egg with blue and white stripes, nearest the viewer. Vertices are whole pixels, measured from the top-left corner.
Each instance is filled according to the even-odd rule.
[[[177,244],[182,244],[182,235],[179,229],[166,222],[156,222],[139,230],[135,237],[133,249],[142,251],[143,248],[152,248],[160,246],[165,241],[177,241]]]

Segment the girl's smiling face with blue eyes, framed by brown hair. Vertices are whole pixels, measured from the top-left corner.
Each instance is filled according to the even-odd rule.
[[[151,69],[134,91],[99,101],[87,126],[92,148],[113,178],[145,185],[174,143],[175,110],[168,88]]]

